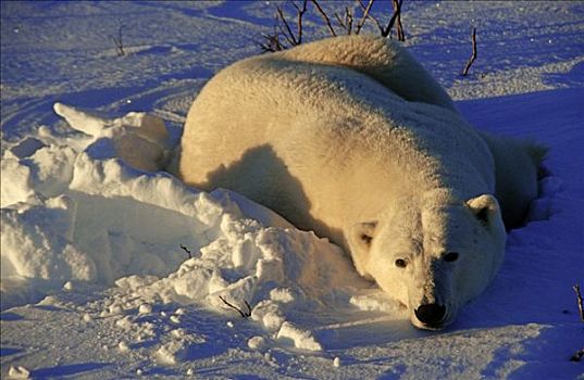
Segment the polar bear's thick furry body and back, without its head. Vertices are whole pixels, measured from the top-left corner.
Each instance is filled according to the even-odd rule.
[[[327,43],[343,41],[381,43],[372,38]],[[448,106],[448,96],[423,68],[428,88],[437,87],[427,101],[423,91],[415,96],[425,86],[417,81],[420,73],[394,84],[377,78],[403,69],[380,65],[394,48],[369,66],[359,63],[358,69],[349,65],[348,53],[309,54],[324,48],[315,42],[254,56],[213,77],[187,116],[181,177],[203,190],[235,190],[336,242],[332,230],[378,214],[396,193],[455,186],[464,198],[493,190],[486,144]],[[335,54],[346,60],[325,60]],[[419,66],[407,58],[410,66]],[[396,62],[385,60],[389,66]],[[401,87],[408,80],[418,101],[405,99]]]

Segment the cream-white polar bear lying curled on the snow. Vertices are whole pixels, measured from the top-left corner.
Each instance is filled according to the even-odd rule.
[[[480,135],[397,42],[347,36],[216,74],[188,112],[176,169],[328,238],[415,327],[440,329],[497,273],[500,204],[535,197],[535,151]],[[526,167],[499,170],[514,155]]]

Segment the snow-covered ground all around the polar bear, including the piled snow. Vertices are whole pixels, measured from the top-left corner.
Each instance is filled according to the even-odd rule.
[[[0,7],[2,378],[584,379],[583,2],[405,1],[406,43],[467,118],[550,148],[501,271],[440,332],[326,240],[157,172],[273,2]],[[306,30],[325,36],[314,11]]]

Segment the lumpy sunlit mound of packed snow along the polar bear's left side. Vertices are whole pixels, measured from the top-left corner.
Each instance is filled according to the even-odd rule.
[[[321,344],[289,312],[400,317],[392,301],[360,293],[371,284],[327,240],[235,192],[197,191],[154,172],[171,152],[162,119],[54,110],[77,132],[45,130],[11,143],[2,159],[2,309],[63,284],[115,284],[107,314],[159,302],[235,306],[276,339],[312,351]]]

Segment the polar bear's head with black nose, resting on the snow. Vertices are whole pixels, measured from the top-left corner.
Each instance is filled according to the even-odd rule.
[[[493,279],[506,232],[493,195],[421,203],[400,200],[348,242],[358,271],[407,305],[415,327],[440,329]]]

